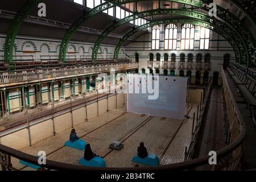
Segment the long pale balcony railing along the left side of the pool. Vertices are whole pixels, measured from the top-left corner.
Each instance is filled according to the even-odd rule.
[[[3,73],[0,75],[0,84],[10,84],[15,82],[27,82],[27,81],[39,81],[39,80],[51,80],[60,77],[72,77],[82,76],[92,73],[109,72],[112,69],[118,71],[120,69],[138,68],[138,63],[123,63],[123,64],[110,64],[110,65],[98,65],[85,68],[64,68],[52,71],[36,71],[36,72],[23,72],[23,73]]]

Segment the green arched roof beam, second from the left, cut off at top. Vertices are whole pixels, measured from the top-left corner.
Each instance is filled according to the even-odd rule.
[[[148,1],[148,0],[109,0],[106,1],[105,3],[102,3],[101,5],[98,5],[94,7],[93,9],[90,9],[88,11],[84,10],[82,15],[75,20],[75,22],[71,25],[71,27],[68,28],[66,31],[64,38],[60,44],[60,53],[59,53],[59,59],[60,61],[63,61],[65,63],[65,55],[67,52],[68,48],[68,43],[71,40],[72,35],[76,32],[77,28],[81,26],[83,22],[85,22],[86,19],[96,15],[97,13],[100,13],[101,11],[105,11],[111,7],[115,7],[118,5],[123,5],[126,3],[131,3],[131,2],[138,2],[138,1]],[[159,1],[169,1],[169,2],[177,2],[177,3],[183,3],[186,5],[191,5],[194,7],[199,7],[199,8],[206,8],[206,4],[209,3],[210,1],[205,1],[205,0],[159,0]]]

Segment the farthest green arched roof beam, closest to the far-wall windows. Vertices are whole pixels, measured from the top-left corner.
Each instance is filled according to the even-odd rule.
[[[195,18],[188,18],[188,19],[181,19],[181,18],[176,18],[176,19],[165,19],[165,20],[155,20],[152,21],[150,23],[146,23],[143,24],[142,26],[139,26],[137,28],[133,28],[133,30],[131,30],[130,32],[128,32],[125,36],[123,36],[123,38],[118,42],[117,47],[115,47],[115,52],[114,52],[114,59],[117,60],[118,59],[118,53],[119,53],[119,49],[121,48],[122,44],[125,43],[125,41],[133,34],[135,34],[138,31],[141,31],[145,28],[148,27],[152,27],[158,24],[166,24],[166,23],[191,23],[191,24],[195,24],[197,26],[201,26],[201,27],[205,27],[205,28],[209,28],[212,29],[213,31],[216,31],[218,34],[224,36],[224,38],[226,40],[228,40],[228,42],[230,42],[230,44],[232,45],[232,47],[234,49],[236,49],[236,44],[234,44],[234,40],[233,38],[229,35],[229,31],[226,32],[226,30],[222,30],[219,27],[215,27],[214,29],[212,28],[212,24],[210,24],[209,22],[204,22],[203,20],[199,20],[199,19],[195,19]],[[237,55],[236,55],[237,56]],[[238,57],[239,59],[239,57]]]

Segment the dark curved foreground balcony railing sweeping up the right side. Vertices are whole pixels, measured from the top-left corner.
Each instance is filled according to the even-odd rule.
[[[223,80],[223,90],[225,95],[225,103],[226,103],[226,115],[228,117],[228,128],[230,135],[230,143],[228,146],[221,148],[217,153],[217,165],[213,167],[214,170],[235,170],[240,167],[240,160],[242,155],[242,144],[245,139],[246,127],[245,123],[242,119],[242,115],[240,110],[237,107],[236,100],[233,97],[232,91],[228,84],[228,80],[225,76],[225,73],[222,69],[222,80]],[[209,94],[209,90],[207,91]],[[207,104],[207,97],[205,97],[205,101],[202,104],[202,114],[203,110]],[[201,115],[202,115],[201,114]],[[203,117],[202,117],[203,118]],[[198,122],[199,123],[199,122]],[[196,130],[199,130],[199,127],[196,127]],[[196,133],[196,130],[194,131]],[[196,134],[194,135],[196,136]],[[196,138],[196,137],[194,137]],[[192,147],[191,147],[192,148]],[[192,150],[192,149],[191,149]],[[189,154],[189,153],[188,153]],[[11,157],[22,159],[26,162],[32,164],[38,164],[38,158],[36,156],[32,156],[26,154],[24,152],[15,150],[14,148],[10,148],[7,146],[3,146],[0,144],[0,165],[3,170],[13,170],[11,165]],[[170,170],[187,170],[195,167],[203,166],[208,164],[209,156],[205,155],[200,158],[191,159],[192,154],[186,156],[187,160],[180,163],[168,164],[164,166],[158,167],[137,167],[137,168],[93,168],[93,167],[84,167],[75,164],[67,164],[60,163],[52,160],[46,160],[46,165],[40,165],[42,167],[48,169],[56,169],[56,170],[79,170],[79,171],[170,171]],[[191,159],[191,160],[190,160]]]

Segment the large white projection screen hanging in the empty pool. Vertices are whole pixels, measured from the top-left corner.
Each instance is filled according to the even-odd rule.
[[[148,79],[149,77],[141,78],[141,75],[127,76],[127,80],[129,80],[128,85],[130,87],[132,86],[134,90],[136,87],[139,87],[139,89],[142,90],[142,87],[146,86],[142,80],[148,82]],[[149,100],[148,96],[152,94],[149,94],[148,92],[128,92],[127,111],[131,113],[154,115],[157,117],[184,119],[186,113],[188,78],[159,76],[158,81],[159,96],[156,100]]]

